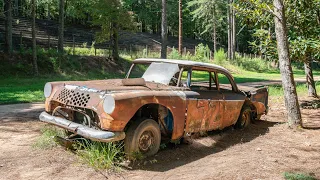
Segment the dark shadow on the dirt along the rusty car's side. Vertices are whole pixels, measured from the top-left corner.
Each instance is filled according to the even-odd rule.
[[[231,146],[247,143],[268,132],[269,127],[277,122],[256,121],[245,130],[227,128],[223,131],[210,132],[207,137],[192,140],[190,144],[167,145],[154,157],[132,164],[133,170],[165,172],[208,155],[222,152]]]

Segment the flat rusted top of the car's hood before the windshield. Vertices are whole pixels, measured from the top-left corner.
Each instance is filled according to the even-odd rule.
[[[146,82],[145,85],[126,86],[122,79],[93,80],[93,81],[63,81],[64,85],[79,86],[82,88],[93,89],[97,91],[132,91],[132,90],[182,90],[185,88],[172,87],[164,84]]]

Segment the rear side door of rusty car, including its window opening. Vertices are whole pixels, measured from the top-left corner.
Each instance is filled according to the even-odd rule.
[[[218,89],[223,94],[221,128],[231,126],[237,122],[245,101],[244,94],[236,92],[236,88],[233,87],[230,81],[230,77],[218,72]]]

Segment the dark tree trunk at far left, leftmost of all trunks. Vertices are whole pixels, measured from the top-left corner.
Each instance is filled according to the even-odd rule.
[[[12,53],[12,1],[5,0],[5,45],[4,52],[11,54]]]

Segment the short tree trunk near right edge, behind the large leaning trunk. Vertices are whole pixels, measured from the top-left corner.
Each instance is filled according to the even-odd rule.
[[[313,79],[312,72],[312,60],[309,53],[306,55],[306,61],[304,62],[304,71],[306,73],[307,87],[308,87],[308,96],[310,97],[318,97],[316,85]]]

